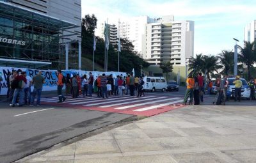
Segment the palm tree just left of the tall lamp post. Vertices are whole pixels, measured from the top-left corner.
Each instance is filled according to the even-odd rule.
[[[223,69],[220,74],[228,75],[232,74],[234,70],[234,52],[223,50],[218,54],[218,59]]]

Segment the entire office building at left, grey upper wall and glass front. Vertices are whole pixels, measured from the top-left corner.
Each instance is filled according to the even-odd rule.
[[[0,0],[0,10],[2,66],[65,68],[69,58],[76,58],[69,65],[76,67],[81,0]]]

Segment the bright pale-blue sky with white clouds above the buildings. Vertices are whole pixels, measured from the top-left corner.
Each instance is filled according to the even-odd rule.
[[[147,15],[174,15],[174,20],[195,21],[195,54],[216,55],[243,45],[244,27],[256,20],[256,0],[81,0],[82,17],[95,14],[109,23]]]

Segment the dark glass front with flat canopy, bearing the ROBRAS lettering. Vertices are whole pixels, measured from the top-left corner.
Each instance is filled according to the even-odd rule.
[[[0,0],[0,66],[65,68],[67,33],[77,26]],[[81,34],[80,34],[81,35]]]

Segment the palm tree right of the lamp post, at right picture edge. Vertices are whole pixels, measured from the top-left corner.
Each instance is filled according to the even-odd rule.
[[[244,42],[244,48],[238,45],[241,52],[241,54],[239,54],[239,59],[247,66],[249,80],[251,79],[252,66],[256,61],[255,43],[256,42]]]

